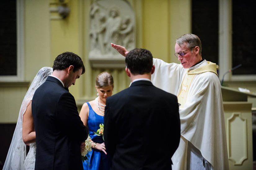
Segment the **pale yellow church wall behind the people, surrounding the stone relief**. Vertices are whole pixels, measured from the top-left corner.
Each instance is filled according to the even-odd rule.
[[[114,77],[114,94],[130,84],[124,69],[92,68],[88,59],[89,11],[92,0],[66,0],[70,14],[64,20],[54,20],[58,13],[50,12],[58,0],[23,0],[24,2],[24,81],[30,82],[38,70],[52,67],[53,60],[64,51],[78,54],[86,72],[70,87],[78,106],[96,97],[95,78],[103,71]],[[136,17],[136,46],[150,50],[155,58],[179,63],[173,55],[175,39],[191,33],[191,0],[128,0]],[[27,84],[27,85],[28,85]],[[234,84],[232,84],[235,86]],[[28,87],[20,84],[0,85],[2,98],[1,122],[16,122],[20,104]],[[20,91],[17,93],[17,91]],[[18,100],[17,100],[18,99]],[[15,103],[13,103],[15,101]],[[12,105],[12,109],[8,106]],[[7,116],[8,115],[8,116]]]

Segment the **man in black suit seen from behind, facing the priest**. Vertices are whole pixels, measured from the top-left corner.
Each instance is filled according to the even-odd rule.
[[[171,169],[180,141],[177,97],[151,82],[149,50],[131,50],[125,71],[132,84],[106,100],[104,139],[112,170]]]

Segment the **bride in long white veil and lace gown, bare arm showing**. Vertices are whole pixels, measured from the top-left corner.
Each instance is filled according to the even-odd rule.
[[[41,68],[32,81],[20,107],[16,128],[11,140],[11,145],[3,166],[3,170],[34,170],[36,154],[36,133],[31,112],[31,102],[35,90],[42,85],[46,78],[52,74],[52,68]],[[26,156],[26,145],[29,152]]]

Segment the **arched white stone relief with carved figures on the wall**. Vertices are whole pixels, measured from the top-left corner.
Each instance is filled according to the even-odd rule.
[[[90,9],[89,60],[93,68],[124,68],[111,42],[135,48],[135,15],[125,0],[95,0]]]

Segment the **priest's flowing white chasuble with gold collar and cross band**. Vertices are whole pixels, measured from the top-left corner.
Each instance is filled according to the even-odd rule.
[[[195,147],[191,150],[199,150],[211,169],[228,170],[224,111],[216,64],[204,60],[184,69],[181,64],[165,63],[160,59],[153,59],[153,63],[152,83],[177,95],[181,104],[181,140],[172,157],[173,169],[193,169],[191,159],[187,160],[190,142],[191,147]]]

